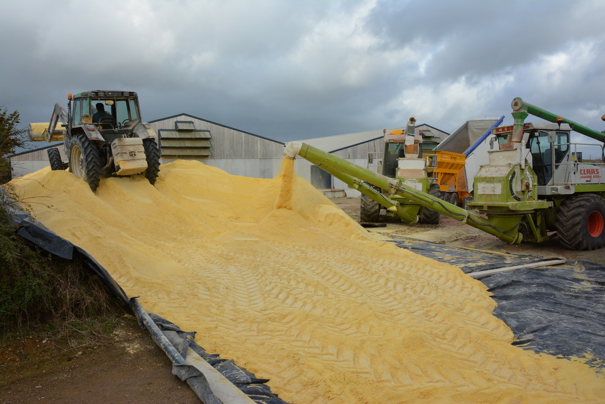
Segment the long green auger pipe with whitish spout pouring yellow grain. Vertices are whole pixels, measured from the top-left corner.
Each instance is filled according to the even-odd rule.
[[[489,221],[489,219],[481,217],[479,213],[476,213],[473,210],[465,210],[462,209],[462,207],[433,197],[426,192],[416,191],[416,189],[402,183],[401,181],[397,181],[394,178],[385,177],[377,172],[362,168],[351,163],[350,161],[345,160],[344,158],[336,157],[333,154],[329,154],[319,150],[318,148],[307,145],[307,143],[286,143],[284,146],[284,156],[288,158],[295,158],[297,154],[329,174],[335,175],[335,173],[339,173],[338,175],[335,175],[337,178],[342,179],[352,177],[352,179],[348,178],[348,180],[353,181],[353,183],[361,183],[361,181],[364,181],[374,186],[378,186],[381,189],[388,189],[391,194],[400,195],[414,203],[428,207],[429,209],[433,209],[436,212],[454,218],[462,223],[466,223],[469,226],[473,226],[476,229],[494,235],[500,238],[502,241],[506,241],[506,243],[518,244],[522,241],[522,235],[517,232],[518,223],[515,223],[514,226],[508,230],[498,229],[491,223],[491,221]],[[347,175],[347,177],[341,177],[342,174]],[[367,191],[367,189],[365,189],[365,191]],[[376,202],[381,203],[381,200],[378,200],[379,198],[374,198],[376,195],[374,195],[372,192],[368,192],[367,194],[365,192],[362,193],[372,198]],[[382,195],[382,197],[384,197],[384,195]],[[397,212],[399,212],[399,210]]]

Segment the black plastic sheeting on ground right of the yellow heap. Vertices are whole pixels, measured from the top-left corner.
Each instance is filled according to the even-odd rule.
[[[391,241],[465,273],[548,261],[413,239]],[[605,373],[605,265],[568,261],[486,275],[479,280],[498,303],[494,315],[511,327],[513,345],[554,356],[586,358],[591,367]]]

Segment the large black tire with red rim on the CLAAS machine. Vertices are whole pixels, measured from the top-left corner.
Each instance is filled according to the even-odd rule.
[[[579,194],[564,200],[557,213],[559,242],[571,250],[595,250],[605,246],[605,200],[595,194]]]

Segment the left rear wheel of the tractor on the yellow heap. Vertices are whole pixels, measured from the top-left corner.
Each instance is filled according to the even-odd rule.
[[[74,135],[70,146],[70,171],[97,190],[101,175],[99,151],[86,135]]]

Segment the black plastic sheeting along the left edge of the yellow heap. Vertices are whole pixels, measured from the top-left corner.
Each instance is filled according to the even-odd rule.
[[[0,195],[0,197],[4,198],[4,200],[8,200],[8,198],[10,198],[1,187],[0,192],[3,194]],[[120,285],[117,284],[113,278],[111,278],[110,274],[99,264],[99,262],[96,261],[96,259],[93,258],[92,255],[80,247],[75,246],[70,241],[60,237],[45,227],[44,224],[31,217],[31,215],[29,215],[27,212],[17,209],[15,206],[8,206],[7,211],[13,220],[13,223],[15,223],[18,227],[19,236],[28,239],[31,241],[31,243],[36,244],[36,246],[40,247],[41,249],[53,255],[60,256],[61,258],[73,259],[76,254],[79,254],[85,267],[91,270],[95,275],[99,276],[99,278],[102,279],[103,283],[111,290],[111,292],[115,293],[116,296],[122,300],[124,305],[126,305],[126,307],[129,307],[129,298],[122,290],[122,287],[120,287]],[[225,376],[229,381],[234,383],[237,388],[243,391],[243,393],[250,397],[250,399],[252,399],[254,402],[258,404],[289,404],[284,400],[281,400],[277,394],[271,393],[270,387],[264,384],[269,382],[269,379],[258,379],[256,376],[254,376],[254,374],[250,373],[244,368],[239,367],[233,360],[221,359],[218,354],[206,353],[203,348],[195,344],[195,332],[182,331],[177,325],[161,318],[160,316],[156,316],[155,314],[149,313],[149,316],[160,328],[163,334],[165,334],[168,340],[172,342],[174,348],[183,357],[185,357],[184,353],[186,353],[187,347],[191,347],[192,350],[199,354],[204,360],[209,362],[212,367],[223,374],[223,376]],[[142,326],[142,328],[146,327]],[[182,368],[184,371],[186,371],[185,368],[190,369],[192,367],[184,366]],[[198,389],[201,391],[206,391],[205,396],[211,397],[212,401],[213,396],[212,394],[208,394],[209,392],[207,391],[208,382],[206,382],[203,376],[198,374],[199,371],[195,370],[194,372],[195,374],[179,374],[177,376],[179,376],[181,380],[188,380],[191,378],[203,379],[201,380],[201,383],[198,382],[195,384],[198,385]],[[188,380],[188,382],[191,382],[191,380]],[[196,393],[198,392],[196,391]],[[199,394],[198,397],[200,397]]]

